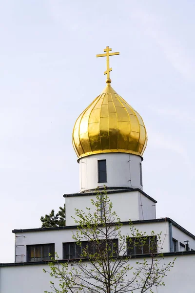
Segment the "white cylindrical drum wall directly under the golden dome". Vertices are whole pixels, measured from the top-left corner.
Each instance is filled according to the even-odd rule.
[[[106,160],[107,182],[98,183],[98,160]],[[81,191],[98,186],[140,188],[141,157],[125,153],[102,153],[79,160]]]

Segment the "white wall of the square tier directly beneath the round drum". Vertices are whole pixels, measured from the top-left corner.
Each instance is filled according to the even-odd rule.
[[[115,211],[123,221],[155,219],[156,207],[155,203],[148,199],[145,195],[142,195],[139,191],[127,191],[108,194],[109,199],[113,204],[113,211]],[[75,225],[75,209],[85,210],[93,206],[91,200],[96,201],[96,195],[78,195],[66,197],[66,225]],[[141,206],[142,205],[142,206]],[[141,209],[142,208],[142,209]],[[143,214],[142,214],[143,210]]]

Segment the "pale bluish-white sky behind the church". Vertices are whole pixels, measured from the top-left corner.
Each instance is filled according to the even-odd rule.
[[[105,87],[142,116],[144,191],[195,234],[195,1],[0,0],[0,262],[78,192],[72,129]],[[186,239],[184,239],[186,240]]]

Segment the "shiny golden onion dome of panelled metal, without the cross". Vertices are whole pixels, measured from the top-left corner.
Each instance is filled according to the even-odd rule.
[[[141,116],[110,85],[80,114],[73,129],[78,159],[99,153],[142,156],[147,132]]]

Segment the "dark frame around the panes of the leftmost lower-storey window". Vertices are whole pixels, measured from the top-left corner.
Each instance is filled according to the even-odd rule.
[[[44,248],[47,247],[47,256],[44,256]],[[31,248],[34,248],[34,257],[31,257]],[[37,249],[40,248],[40,257],[36,256]],[[52,253],[52,256],[49,256]],[[55,257],[55,243],[43,243],[43,244],[31,244],[26,246],[26,261],[27,262],[38,262],[48,261],[51,257]],[[32,260],[33,258],[33,260]],[[38,259],[40,258],[40,260]]]

